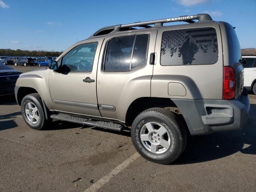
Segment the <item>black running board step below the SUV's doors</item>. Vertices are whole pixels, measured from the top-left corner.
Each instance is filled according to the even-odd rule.
[[[78,123],[82,125],[89,125],[93,127],[100,127],[100,128],[110,129],[110,130],[120,131],[120,132],[124,129],[124,126],[117,123],[105,122],[105,121],[93,121],[93,120],[88,120],[86,118],[70,116],[68,114],[62,114],[62,113],[59,113],[58,115],[52,114],[50,118],[61,120],[61,121],[68,121],[72,123]]]

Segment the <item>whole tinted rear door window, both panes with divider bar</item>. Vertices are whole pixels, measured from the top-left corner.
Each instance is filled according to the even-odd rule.
[[[111,39],[106,50],[105,71],[129,71],[146,64],[148,34]]]

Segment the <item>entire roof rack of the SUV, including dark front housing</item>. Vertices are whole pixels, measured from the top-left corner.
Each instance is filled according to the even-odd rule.
[[[96,36],[97,37],[106,36],[107,34],[112,34],[117,31],[135,30],[136,28],[134,27],[151,28],[152,26],[150,25],[162,26],[164,23],[180,22],[180,21],[194,23],[195,22],[194,20],[198,20],[198,22],[208,22],[208,21],[212,21],[212,18],[209,14],[204,13],[204,14],[197,14],[197,15],[191,15],[191,16],[185,15],[185,16],[179,16],[179,17],[173,17],[173,18],[108,26],[96,31],[92,36],[89,37],[89,39],[96,38]]]

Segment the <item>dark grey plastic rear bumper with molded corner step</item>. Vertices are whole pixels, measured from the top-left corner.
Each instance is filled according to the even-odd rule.
[[[247,94],[233,100],[178,100],[191,135],[239,130],[246,124],[250,101]]]

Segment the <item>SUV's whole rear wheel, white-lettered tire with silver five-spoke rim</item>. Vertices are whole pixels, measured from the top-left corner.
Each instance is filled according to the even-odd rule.
[[[151,108],[135,118],[131,137],[141,156],[159,164],[170,164],[184,151],[187,132],[174,113]]]

